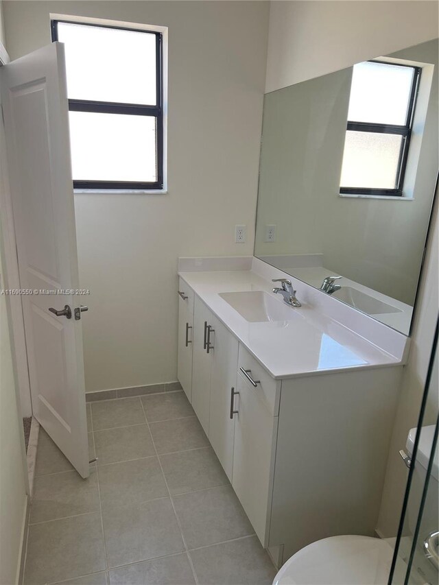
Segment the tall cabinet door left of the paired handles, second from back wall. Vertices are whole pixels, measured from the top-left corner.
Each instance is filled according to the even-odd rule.
[[[207,353],[205,328],[211,325],[213,314],[204,303],[195,297],[193,310],[193,362],[192,362],[192,407],[198,420],[209,436],[209,410],[211,404],[212,353]],[[206,325],[205,325],[206,324]],[[211,340],[213,341],[213,335]]]

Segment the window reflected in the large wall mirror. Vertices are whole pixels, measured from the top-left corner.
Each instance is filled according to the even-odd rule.
[[[353,67],[340,193],[403,195],[419,79],[403,64]]]

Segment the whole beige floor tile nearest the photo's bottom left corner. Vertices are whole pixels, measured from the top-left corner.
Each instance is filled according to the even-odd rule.
[[[100,514],[85,514],[29,527],[25,585],[104,571]]]

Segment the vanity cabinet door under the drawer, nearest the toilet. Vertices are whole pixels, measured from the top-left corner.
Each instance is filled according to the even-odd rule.
[[[257,389],[241,374],[237,379],[232,486],[254,532],[267,547],[278,417],[272,416]]]

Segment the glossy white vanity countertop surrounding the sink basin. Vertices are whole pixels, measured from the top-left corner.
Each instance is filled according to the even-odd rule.
[[[251,270],[178,274],[275,379],[403,363],[307,302],[287,307],[286,321],[246,321],[219,293],[265,291],[284,304]]]

